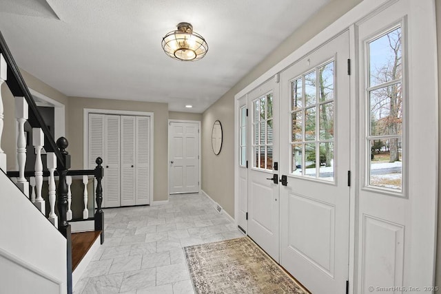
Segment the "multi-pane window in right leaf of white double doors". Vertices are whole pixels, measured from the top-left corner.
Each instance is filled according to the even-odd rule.
[[[291,82],[291,174],[334,181],[334,61]]]

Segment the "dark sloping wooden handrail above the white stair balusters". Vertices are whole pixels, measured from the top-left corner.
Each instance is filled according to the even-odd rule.
[[[57,156],[59,164],[64,166],[63,156],[59,149],[57,148],[57,144],[55,143],[54,138],[50,134],[48,126],[44,123],[43,117],[41,116],[37,105],[35,104],[34,98],[30,94],[29,88],[25,83],[23,76],[21,76],[21,72],[17,63],[15,63],[14,58],[6,44],[5,39],[3,39],[3,34],[0,31],[0,53],[3,55],[3,58],[8,65],[8,77],[6,78],[6,84],[9,87],[9,90],[12,92],[14,97],[24,97],[26,102],[28,102],[28,106],[30,109],[31,117],[28,120],[31,127],[39,127],[43,130],[43,134],[45,136],[45,145],[44,148],[48,152],[54,152]]]

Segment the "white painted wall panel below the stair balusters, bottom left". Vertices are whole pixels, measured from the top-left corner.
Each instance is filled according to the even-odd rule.
[[[1,293],[65,293],[67,290],[66,240],[34,207],[11,180],[0,172],[0,292]],[[21,218],[17,215],[20,211]],[[10,262],[16,264],[9,266]],[[29,273],[31,271],[31,273]],[[19,275],[16,277],[16,275]],[[37,275],[37,276],[36,276]],[[29,277],[29,280],[23,277]],[[14,278],[15,277],[15,278]],[[34,282],[45,285],[48,292],[39,292]],[[48,280],[52,282],[48,282]],[[3,292],[6,286],[13,291]],[[57,291],[50,284],[59,285]]]

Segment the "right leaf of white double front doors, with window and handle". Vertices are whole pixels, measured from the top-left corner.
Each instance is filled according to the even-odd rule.
[[[280,74],[280,264],[312,293],[345,293],[349,32]]]

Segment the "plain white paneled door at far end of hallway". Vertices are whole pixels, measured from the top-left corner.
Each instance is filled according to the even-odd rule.
[[[199,192],[199,123],[171,121],[170,194]]]

